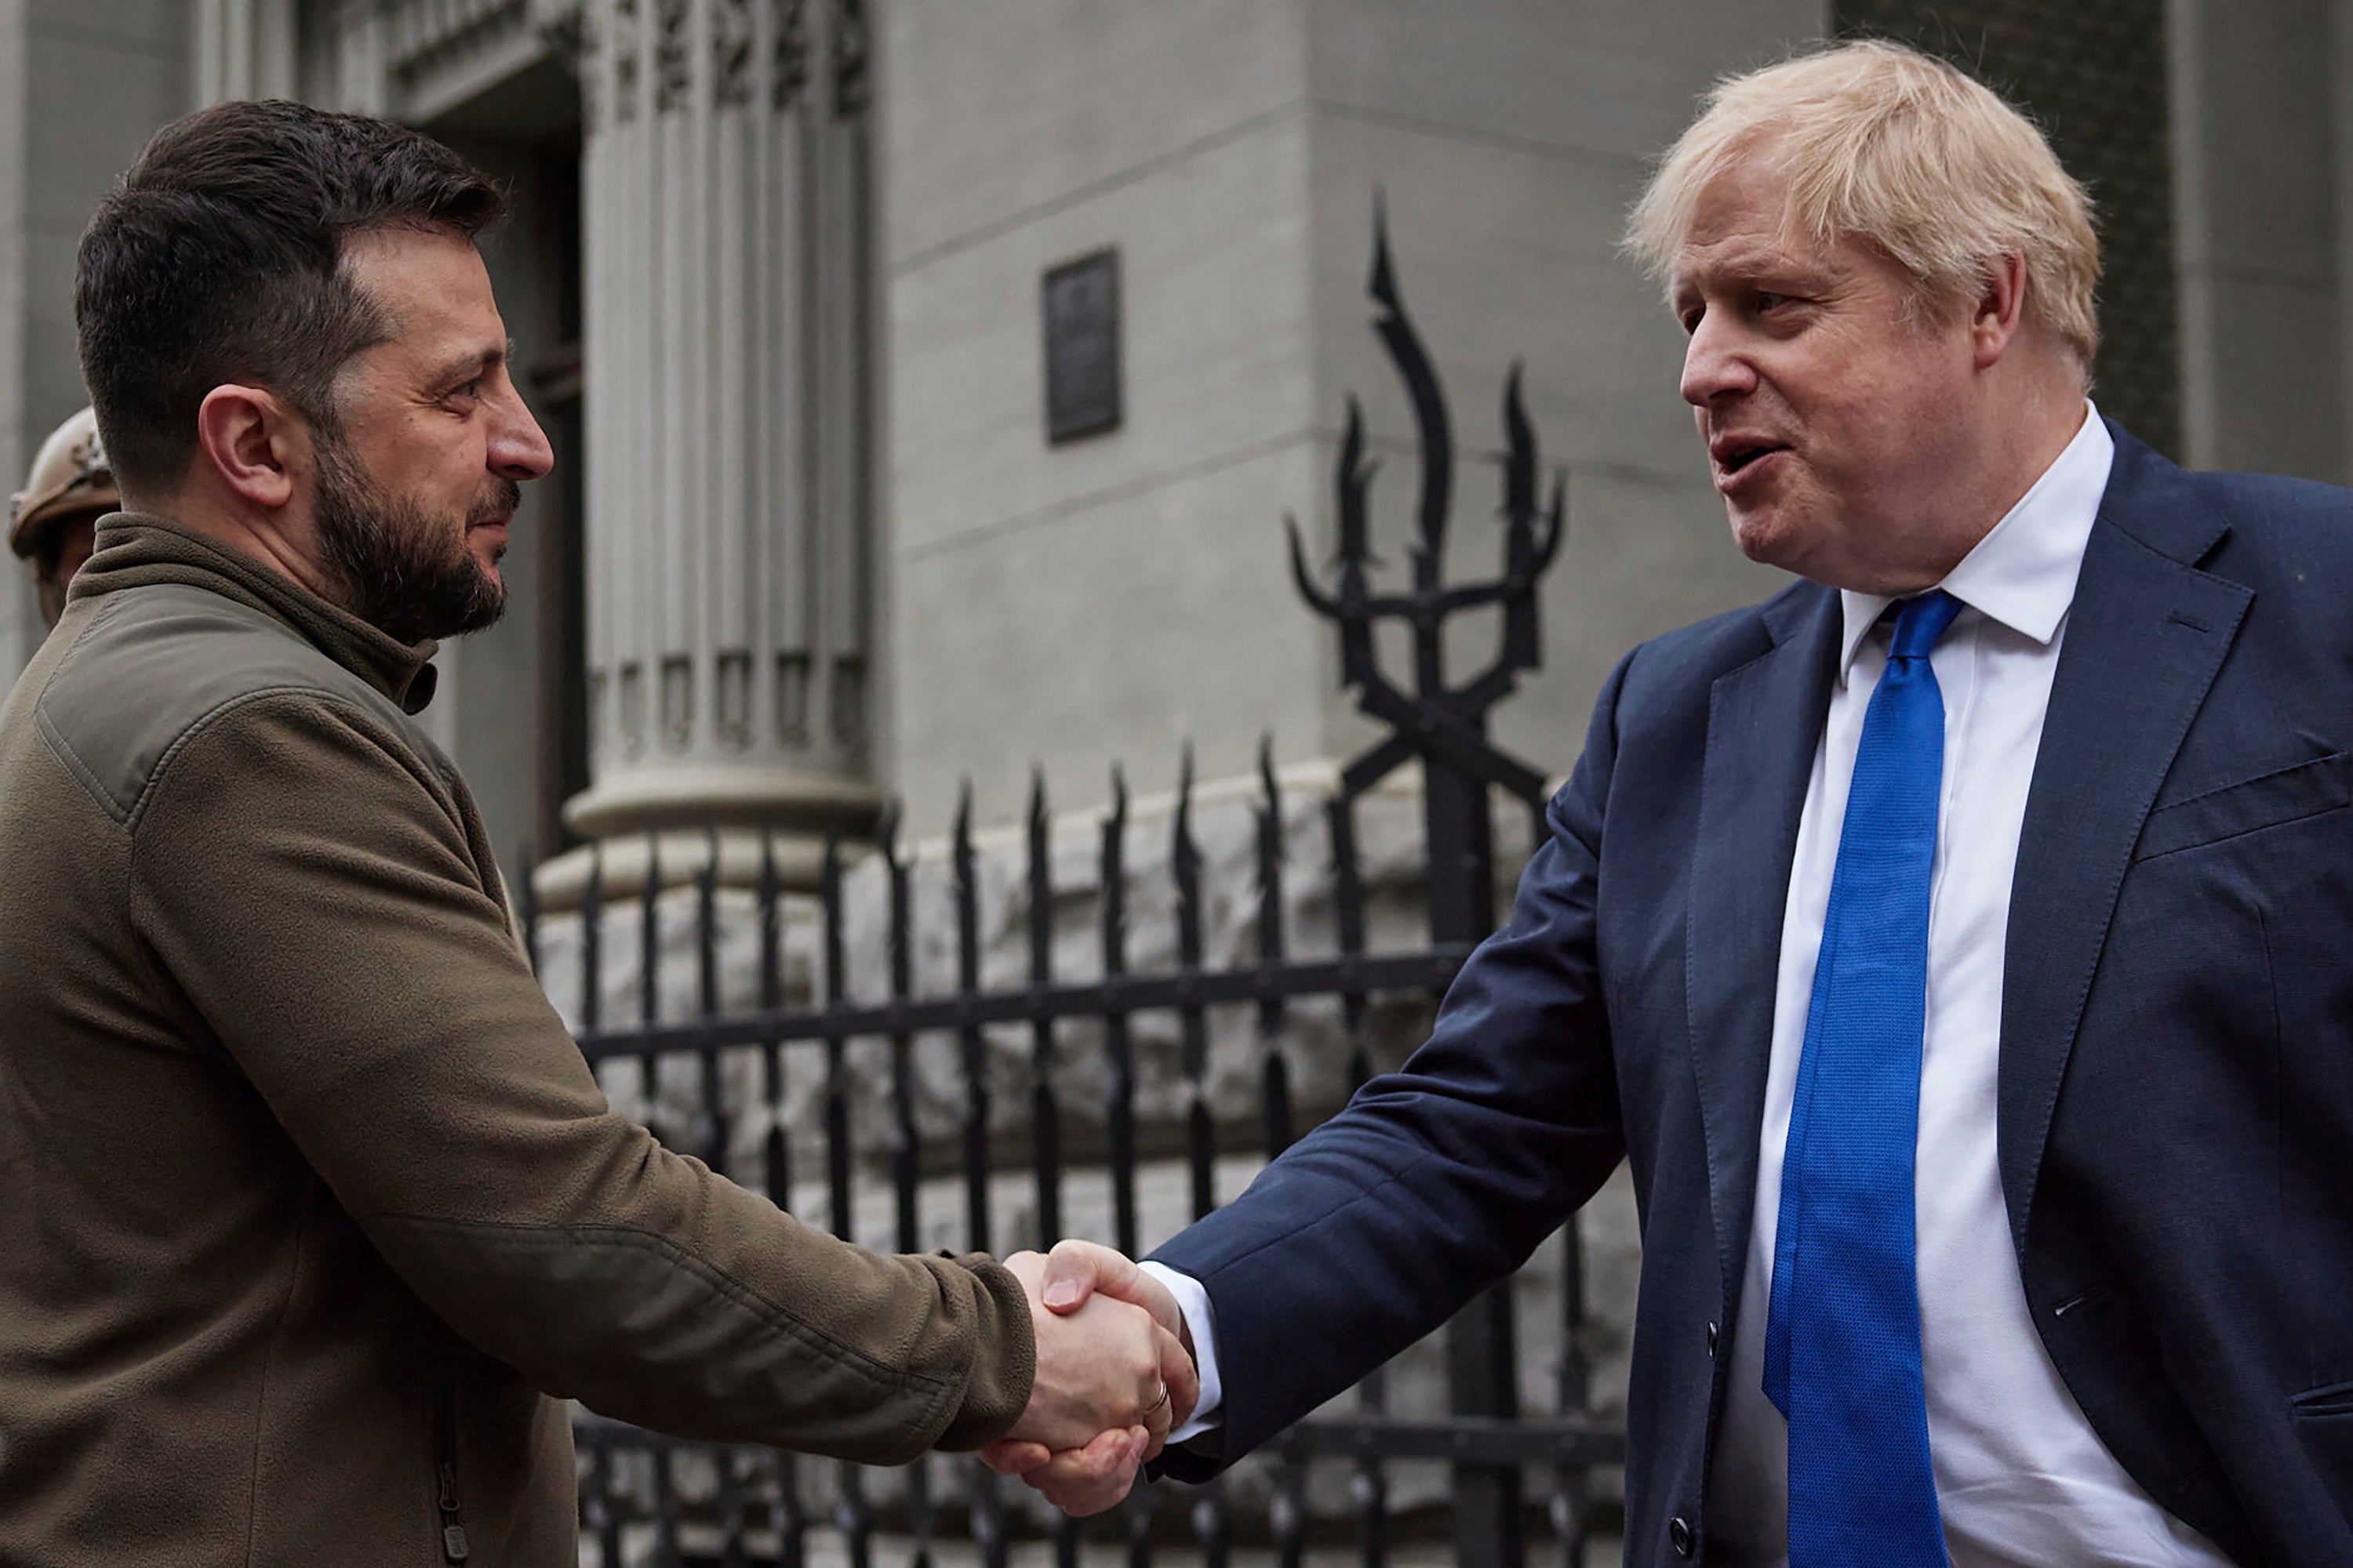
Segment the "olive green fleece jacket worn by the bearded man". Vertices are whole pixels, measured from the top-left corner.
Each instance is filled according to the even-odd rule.
[[[431,654],[115,515],[0,708],[0,1563],[572,1568],[562,1399],[878,1465],[1028,1401],[1002,1267],[605,1105]]]

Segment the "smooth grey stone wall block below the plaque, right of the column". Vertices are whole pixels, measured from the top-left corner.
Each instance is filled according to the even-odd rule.
[[[929,830],[976,788],[979,820],[1021,809],[1028,764],[1101,795],[1115,762],[1169,780],[1186,738],[1209,776],[1325,750],[1322,628],[1282,567],[1282,510],[1322,463],[1306,444],[1104,498],[991,538],[901,557],[901,780]],[[1002,614],[995,607],[1021,607]]]

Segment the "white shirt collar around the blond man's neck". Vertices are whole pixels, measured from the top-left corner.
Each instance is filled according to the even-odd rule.
[[[2099,409],[2085,402],[2075,440],[2052,458],[1993,531],[1960,557],[1939,588],[1988,621],[2000,621],[2047,646],[2059,635],[2068,604],[2075,602],[2075,574],[2082,569],[2082,548],[2092,541],[2092,520],[2099,515],[2113,463],[2115,437],[2108,435]],[[1838,602],[1847,621],[1838,661],[1838,684],[1845,684],[1857,649],[1894,599],[1842,588]]]

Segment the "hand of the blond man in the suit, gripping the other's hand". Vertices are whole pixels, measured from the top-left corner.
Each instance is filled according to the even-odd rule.
[[[1052,1321],[1038,1312],[1040,1305],[1054,1316],[1075,1324],[1085,1316],[1082,1309],[1087,1309],[1087,1302],[1101,1295],[1106,1300],[1096,1302],[1094,1312],[1111,1305],[1141,1307],[1153,1321],[1155,1342],[1162,1347],[1160,1375],[1165,1378],[1167,1399],[1151,1413],[1151,1420],[1125,1432],[1108,1429],[1106,1425],[1085,1446],[1064,1446],[1056,1450],[1045,1439],[1031,1441],[1031,1434],[1024,1432],[1028,1415],[1024,1415],[1005,1439],[981,1450],[981,1460],[991,1469],[1021,1476],[1061,1512],[1099,1514],[1129,1493],[1136,1483],[1136,1469],[1160,1453],[1167,1434],[1184,1425],[1193,1413],[1195,1399],[1200,1399],[1193,1340],[1186,1333],[1184,1314],[1176,1309],[1176,1298],[1151,1274],[1108,1246],[1092,1241],[1061,1241],[1054,1246],[1052,1258],[1016,1253],[1005,1265],[1031,1293],[1031,1314],[1040,1324],[1040,1380],[1045,1378],[1045,1324]],[[1176,1352],[1174,1359],[1169,1359],[1172,1349]]]

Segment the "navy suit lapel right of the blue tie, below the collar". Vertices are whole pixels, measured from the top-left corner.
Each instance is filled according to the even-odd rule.
[[[2019,830],[2002,959],[2000,1164],[2024,1255],[2059,1081],[2132,846],[2252,590],[2198,571],[2228,531],[2122,430],[2085,545]]]

